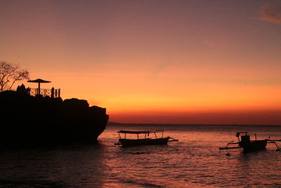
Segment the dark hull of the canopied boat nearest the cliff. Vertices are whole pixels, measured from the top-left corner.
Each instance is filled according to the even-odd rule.
[[[167,144],[169,137],[158,139],[119,139],[122,146],[143,146]]]

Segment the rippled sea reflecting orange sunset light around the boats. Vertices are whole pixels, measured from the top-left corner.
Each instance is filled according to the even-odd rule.
[[[115,145],[119,130],[164,130],[178,142],[124,148]],[[281,139],[277,125],[111,124],[98,144],[1,150],[0,187],[281,187],[275,144],[219,149],[236,132]]]

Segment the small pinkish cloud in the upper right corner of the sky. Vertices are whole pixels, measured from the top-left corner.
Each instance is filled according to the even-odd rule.
[[[259,20],[281,24],[281,7],[270,8],[268,5],[261,6],[263,16]],[[277,15],[279,13],[279,15]]]

